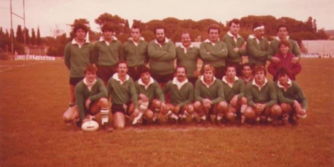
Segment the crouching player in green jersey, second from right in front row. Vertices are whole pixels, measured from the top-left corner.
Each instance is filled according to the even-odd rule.
[[[245,109],[245,118],[267,121],[277,119],[281,115],[281,108],[277,103],[274,83],[265,77],[264,66],[255,66],[253,69],[254,79],[245,86],[245,95],[248,106]]]

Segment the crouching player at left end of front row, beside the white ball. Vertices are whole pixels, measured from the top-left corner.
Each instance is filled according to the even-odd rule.
[[[69,108],[64,114],[65,122],[78,121],[77,124],[88,121],[86,115],[95,115],[100,112],[101,124],[108,122],[108,94],[101,79],[96,77],[96,67],[88,65],[84,70],[84,78],[75,86],[76,105]],[[79,119],[79,120],[77,120]],[[106,130],[111,130],[108,126]]]

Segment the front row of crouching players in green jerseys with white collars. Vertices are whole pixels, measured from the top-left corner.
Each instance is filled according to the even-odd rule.
[[[109,78],[106,86],[96,77],[96,68],[89,65],[85,77],[75,86],[76,105],[63,114],[66,123],[76,124],[89,121],[87,115],[100,113],[101,125],[111,130],[108,123],[109,98],[114,126],[123,128],[125,117],[133,118],[137,125],[145,119],[157,122],[158,115],[174,122],[183,122],[196,114],[201,124],[207,124],[208,115],[215,115],[218,125],[224,121],[234,121],[236,115],[241,123],[281,121],[288,119],[297,123],[306,116],[307,100],[300,86],[288,78],[288,70],[277,71],[278,80],[266,79],[263,66],[253,69],[254,79],[244,85],[244,81],[235,76],[235,67],[227,66],[225,76],[215,78],[212,65],[203,66],[203,73],[193,86],[186,78],[186,69],[175,68],[174,78],[160,88],[150,76],[148,68],[142,68],[140,78],[133,81],[127,72],[127,64],[119,63],[117,73]],[[170,93],[170,103],[166,103],[164,93]],[[279,102],[279,104],[277,103]]]

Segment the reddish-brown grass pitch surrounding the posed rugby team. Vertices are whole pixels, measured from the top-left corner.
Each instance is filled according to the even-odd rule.
[[[69,98],[63,61],[0,61],[0,166],[334,166],[334,59],[300,62],[297,82],[309,109],[299,126],[107,133],[62,122]]]

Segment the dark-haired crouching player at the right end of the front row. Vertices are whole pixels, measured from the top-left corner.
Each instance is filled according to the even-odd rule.
[[[288,78],[288,69],[282,67],[277,70],[278,80],[275,81],[277,98],[282,109],[282,119],[287,122],[289,115],[292,121],[306,117],[307,99],[297,82]]]

